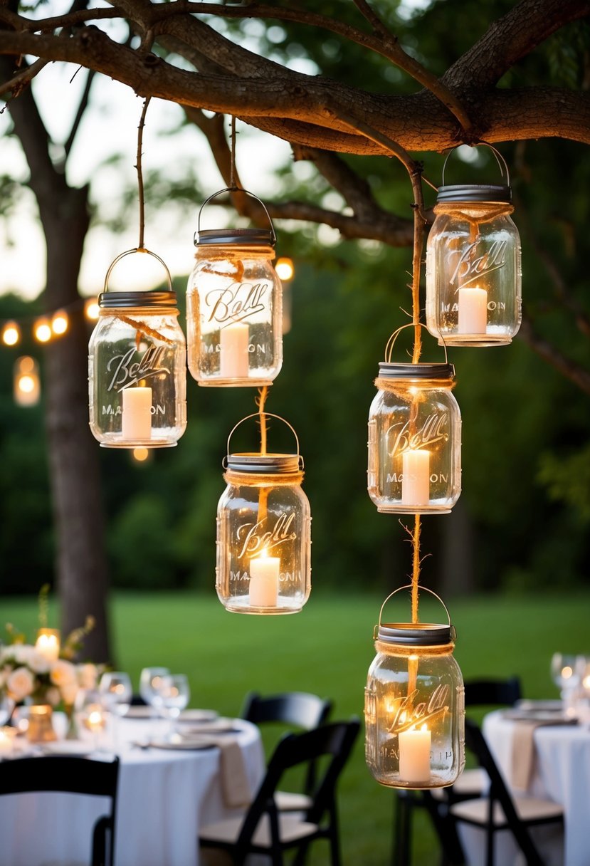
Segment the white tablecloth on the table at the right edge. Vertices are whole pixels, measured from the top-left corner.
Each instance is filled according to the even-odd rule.
[[[501,710],[484,719],[484,735],[514,796],[512,734],[517,721],[503,717]],[[554,800],[563,807],[564,849],[542,842],[543,856],[564,866],[590,866],[590,728],[585,725],[536,727],[533,734],[535,763],[527,794]],[[535,830],[539,833],[541,830]],[[544,830],[547,833],[547,830]],[[535,837],[535,841],[537,837]]]

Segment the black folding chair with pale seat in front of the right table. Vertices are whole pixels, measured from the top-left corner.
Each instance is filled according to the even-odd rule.
[[[485,866],[493,866],[494,842],[497,832],[510,830],[527,866],[544,866],[545,861],[529,833],[531,827],[541,824],[562,824],[561,805],[551,800],[531,797],[512,798],[498,770],[490,748],[475,722],[465,721],[465,746],[475,754],[479,765],[489,778],[486,797],[464,800],[451,806],[450,817],[456,823],[464,822],[485,832]]]

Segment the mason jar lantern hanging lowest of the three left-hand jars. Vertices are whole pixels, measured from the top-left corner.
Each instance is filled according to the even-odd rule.
[[[261,423],[284,421],[268,413],[243,421],[253,417]],[[297,613],[309,598],[310,503],[301,489],[298,438],[287,426],[297,442],[295,454],[232,454],[234,430],[229,434],[223,462],[228,487],[217,507],[216,566],[217,595],[228,611]]]

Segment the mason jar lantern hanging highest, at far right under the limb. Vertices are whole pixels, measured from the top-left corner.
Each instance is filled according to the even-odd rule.
[[[502,346],[521,323],[521,248],[510,218],[510,176],[503,157],[491,150],[508,183],[446,186],[449,153],[434,207],[426,244],[426,325],[447,346]]]

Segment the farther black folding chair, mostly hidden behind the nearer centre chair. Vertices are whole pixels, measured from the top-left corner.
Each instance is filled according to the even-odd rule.
[[[332,708],[331,701],[308,692],[284,692],[280,695],[262,697],[256,692],[246,695],[241,711],[242,719],[255,725],[277,722],[289,727],[311,731],[327,721]],[[311,792],[315,785],[315,761],[310,761],[305,771],[303,793],[278,791],[276,804],[279,811],[305,811],[311,805]]]

